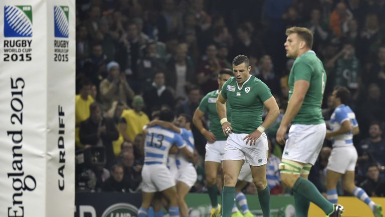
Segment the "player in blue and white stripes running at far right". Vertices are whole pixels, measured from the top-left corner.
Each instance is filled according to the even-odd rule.
[[[336,187],[342,177],[343,189],[365,202],[374,216],[379,217],[382,216],[381,206],[375,204],[362,188],[354,184],[354,169],[358,155],[353,145],[353,135],[359,133],[359,128],[354,112],[345,105],[349,95],[350,92],[345,87],[335,87],[331,95],[335,110],[330,117],[330,131],[326,132],[326,139],[330,139],[333,144],[326,167],[327,200],[337,203]]]

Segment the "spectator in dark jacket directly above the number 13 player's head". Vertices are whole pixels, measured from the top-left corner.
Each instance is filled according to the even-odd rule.
[[[174,106],[174,96],[172,92],[164,85],[164,73],[158,71],[155,73],[152,87],[143,93],[144,103],[146,104],[146,114],[151,116],[153,110],[159,110],[163,104],[170,108]]]

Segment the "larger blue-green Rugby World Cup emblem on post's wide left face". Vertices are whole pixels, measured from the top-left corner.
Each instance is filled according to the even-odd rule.
[[[32,37],[31,6],[4,6],[4,37]]]

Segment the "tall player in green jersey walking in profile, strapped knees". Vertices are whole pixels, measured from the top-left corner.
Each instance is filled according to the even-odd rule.
[[[310,201],[327,216],[341,216],[343,206],[327,201],[313,183],[307,180],[310,168],[317,160],[326,135],[321,104],[326,73],[313,46],[313,33],[306,28],[286,30],[286,56],[295,59],[289,74],[289,102],[276,139],[285,143],[284,136],[291,123],[283,150],[281,181],[293,190],[298,217],[307,216]]]

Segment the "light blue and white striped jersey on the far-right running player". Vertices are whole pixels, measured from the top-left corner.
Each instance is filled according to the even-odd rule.
[[[330,117],[330,131],[334,132],[341,128],[344,121],[349,120],[351,127],[357,127],[358,122],[355,119],[355,114],[348,105],[338,105]],[[335,136],[331,140],[333,147],[343,147],[353,145],[353,132],[347,132]]]

